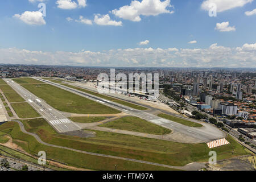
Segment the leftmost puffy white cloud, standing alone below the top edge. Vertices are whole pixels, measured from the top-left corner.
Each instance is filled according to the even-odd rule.
[[[25,11],[23,14],[15,14],[14,18],[18,18],[23,22],[31,25],[43,25],[46,21],[43,18],[43,14],[39,11]]]

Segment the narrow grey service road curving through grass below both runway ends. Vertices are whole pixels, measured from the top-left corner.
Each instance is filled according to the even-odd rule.
[[[86,152],[86,151],[76,150],[74,148],[57,146],[55,144],[50,144],[50,143],[43,142],[43,140],[41,140],[38,135],[36,135],[34,133],[27,132],[25,130],[25,127],[24,127],[22,122],[20,122],[18,120],[14,120],[14,122],[18,122],[19,123],[20,130],[23,133],[31,135],[32,137],[35,137],[35,139],[39,143],[44,144],[44,145],[49,146],[49,147],[62,148],[62,149],[65,149],[65,150],[71,150],[71,151],[80,152],[80,153],[83,153],[83,154],[94,155],[94,156],[101,156],[101,157],[105,157],[105,158],[121,159],[121,160],[127,160],[127,161],[131,161],[131,162],[137,162],[137,163],[143,163],[143,164],[151,164],[151,165],[159,166],[159,167],[167,167],[167,168],[172,168],[172,169],[189,170],[189,171],[191,171],[191,170],[199,170],[201,168],[205,168],[205,164],[206,164],[206,163],[191,163],[191,164],[187,164],[186,166],[169,166],[169,165],[166,165],[166,164],[152,163],[152,162],[147,162],[147,161],[137,160],[137,159],[122,158],[122,157],[113,156],[113,155],[97,154],[97,153],[93,153],[93,152]]]

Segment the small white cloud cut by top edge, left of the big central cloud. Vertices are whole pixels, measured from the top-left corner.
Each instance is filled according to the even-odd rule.
[[[77,0],[77,3],[72,0],[57,0],[56,4],[60,9],[72,10],[76,9],[77,7],[85,7],[86,0]]]

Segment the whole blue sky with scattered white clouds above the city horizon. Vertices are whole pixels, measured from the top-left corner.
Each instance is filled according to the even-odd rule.
[[[40,2],[46,17],[36,13]],[[203,6],[211,2],[216,17]],[[256,67],[253,0],[6,0],[0,5],[1,63]]]

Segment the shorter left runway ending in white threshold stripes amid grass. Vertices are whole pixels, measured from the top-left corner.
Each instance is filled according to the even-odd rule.
[[[17,93],[20,94],[39,114],[41,114],[50,125],[53,126],[59,133],[68,131],[81,130],[81,127],[76,123],[64,117],[59,111],[49,106],[46,102],[30,93],[11,79],[3,79],[9,84]]]

